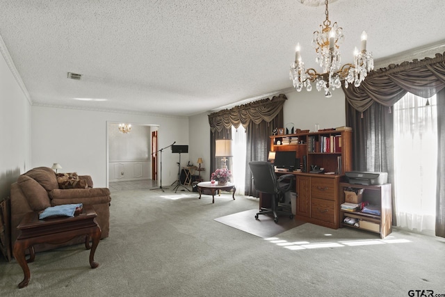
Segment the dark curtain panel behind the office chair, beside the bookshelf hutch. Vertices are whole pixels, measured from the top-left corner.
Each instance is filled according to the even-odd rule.
[[[250,123],[246,129],[247,133],[247,156],[245,164],[245,195],[258,197],[252,182],[252,172],[250,172],[250,161],[267,161],[270,151],[270,137],[273,128],[284,127],[283,109],[278,113],[272,122],[260,122],[258,125]]]

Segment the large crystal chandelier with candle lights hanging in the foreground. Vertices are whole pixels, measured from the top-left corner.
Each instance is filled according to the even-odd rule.
[[[320,31],[314,32],[312,46],[317,53],[316,63],[323,67],[323,73],[318,73],[314,68],[305,70],[305,63],[302,62],[300,55],[300,43],[297,44],[295,62],[291,64],[289,79],[293,82],[293,87],[298,92],[306,88],[308,92],[312,90],[311,83],[316,83],[316,89],[325,91],[325,97],[332,97],[330,88],[335,90],[341,87],[341,81],[344,80],[345,88],[349,83],[354,86],[360,86],[368,73],[374,69],[374,60],[371,52],[366,52],[366,32],[362,33],[362,49],[358,51],[355,47],[354,63],[341,66],[339,44],[343,42],[343,29],[335,22],[330,26],[329,12],[327,10],[327,0],[325,0],[326,19],[323,25],[320,25]]]

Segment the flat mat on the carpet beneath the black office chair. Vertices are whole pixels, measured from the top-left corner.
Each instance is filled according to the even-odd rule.
[[[278,223],[275,223],[272,215],[259,216],[259,219],[256,220],[255,214],[257,214],[257,212],[258,209],[250,209],[236,214],[229,214],[228,216],[215,218],[214,220],[261,238],[276,236],[277,234],[291,230],[292,228],[305,223],[285,216],[280,217]]]

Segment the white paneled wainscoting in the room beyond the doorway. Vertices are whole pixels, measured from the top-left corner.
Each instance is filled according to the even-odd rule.
[[[108,163],[110,182],[150,179],[151,161],[111,161]]]

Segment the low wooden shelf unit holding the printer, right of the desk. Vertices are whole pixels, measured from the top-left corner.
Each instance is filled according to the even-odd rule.
[[[359,230],[366,230],[380,234],[380,238],[385,238],[392,230],[392,202],[391,202],[391,184],[382,184],[378,186],[362,186],[360,184],[348,184],[341,182],[339,184],[340,205],[345,202],[344,191],[347,188],[364,189],[362,194],[362,202],[369,202],[370,204],[380,206],[380,216],[373,214],[365,214],[360,211],[343,211],[340,208],[341,226],[353,227]],[[343,223],[343,219],[349,216],[350,218],[357,218],[359,220],[359,227]],[[367,226],[360,226],[360,222],[369,222],[378,227],[377,230],[370,230]],[[364,225],[364,224],[362,224]],[[378,225],[378,226],[377,226]]]

